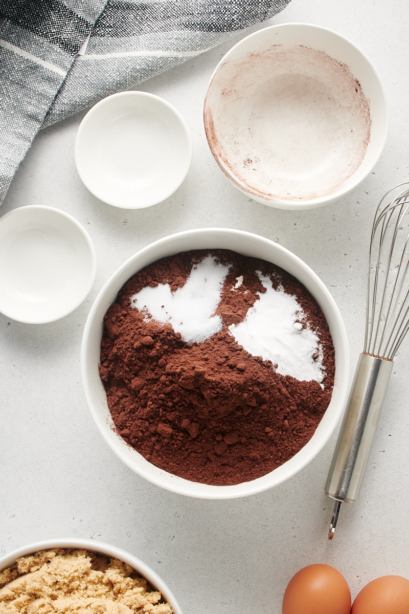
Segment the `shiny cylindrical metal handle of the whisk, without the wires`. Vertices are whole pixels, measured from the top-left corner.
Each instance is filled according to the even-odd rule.
[[[351,503],[359,495],[392,367],[392,360],[365,352],[359,356],[325,485],[331,499]]]

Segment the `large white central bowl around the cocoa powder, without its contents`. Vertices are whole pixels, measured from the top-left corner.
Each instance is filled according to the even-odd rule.
[[[228,249],[262,258],[297,278],[312,294],[326,317],[335,349],[335,380],[331,402],[312,438],[288,461],[251,481],[231,486],[213,486],[186,480],[147,461],[120,437],[109,411],[104,384],[99,375],[104,315],[132,275],[166,256],[194,249]],[[81,348],[81,371],[86,402],[97,429],[112,451],[134,472],[161,488],[191,497],[231,499],[265,491],[288,480],[307,465],[327,443],[341,418],[348,394],[350,357],[342,316],[327,287],[296,255],[258,235],[228,228],[188,230],[159,239],[126,260],[102,287],[85,324]]]

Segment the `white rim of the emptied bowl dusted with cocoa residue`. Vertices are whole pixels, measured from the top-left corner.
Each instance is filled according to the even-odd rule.
[[[263,35],[264,33],[266,32],[268,33],[268,31],[280,31],[280,29],[297,29],[297,28],[312,28],[312,29],[315,29],[316,31],[323,31],[323,32],[329,33],[333,35],[334,37],[337,37],[338,39],[342,40],[347,45],[350,45],[350,47],[353,48],[356,51],[356,53],[360,55],[367,62],[367,64],[372,69],[373,75],[375,76],[377,80],[380,97],[382,98],[382,103],[384,107],[383,108],[384,124],[383,124],[383,131],[382,131],[381,139],[380,139],[380,146],[378,147],[378,153],[376,156],[373,157],[372,166],[370,166],[367,169],[367,172],[365,172],[365,176],[357,177],[356,181],[353,184],[349,185],[348,187],[341,186],[340,188],[335,190],[334,193],[332,193],[331,195],[327,195],[327,196],[317,196],[316,198],[305,199],[305,200],[293,200],[293,201],[285,200],[284,198],[279,198],[276,196],[274,196],[273,198],[263,198],[263,196],[257,195],[255,190],[251,192],[248,189],[248,187],[245,186],[243,182],[240,181],[240,178],[236,177],[235,174],[230,173],[227,166],[223,165],[223,163],[218,159],[218,157],[215,156],[216,163],[220,167],[221,171],[223,171],[227,179],[229,179],[229,181],[231,181],[232,184],[235,185],[235,187],[240,190],[240,192],[243,192],[245,195],[250,196],[250,198],[253,198],[254,200],[260,203],[266,204],[267,206],[277,207],[281,209],[288,209],[288,210],[293,210],[293,211],[294,210],[300,211],[303,209],[315,209],[318,207],[322,207],[326,204],[339,200],[340,198],[342,198],[342,196],[345,196],[346,194],[354,190],[354,188],[356,188],[357,185],[359,185],[363,181],[364,177],[370,174],[370,172],[373,170],[375,165],[378,163],[378,160],[380,159],[382,155],[384,146],[388,139],[388,131],[389,131],[389,123],[390,123],[390,111],[389,111],[388,99],[386,96],[386,89],[383,85],[379,72],[375,68],[375,65],[372,63],[372,61],[369,59],[369,56],[367,56],[366,53],[364,53],[362,49],[360,49],[353,41],[348,39],[346,36],[343,36],[343,34],[340,34],[331,28],[326,28],[325,26],[317,25],[315,23],[304,23],[301,21],[295,21],[293,23],[292,22],[278,23],[278,24],[266,26],[266,28],[258,29],[256,32],[248,34],[248,36],[244,37],[242,40],[235,43],[231,47],[231,49],[229,49],[224,54],[223,58],[221,58],[221,60],[218,62],[216,68],[213,70],[212,76],[210,77],[210,80],[207,86],[205,99],[204,99],[204,113],[203,113],[204,117],[206,115],[208,91],[210,90],[212,82],[215,79],[215,76],[218,73],[220,67],[223,65],[223,63],[226,60],[229,60],[229,58],[231,58],[231,56],[234,55],[234,53],[238,49],[240,49],[240,47],[242,47],[242,45],[247,44],[247,41],[250,41],[251,39],[256,39],[257,37]],[[205,125],[205,132],[207,132],[206,125]],[[209,144],[209,147],[210,147],[210,144]],[[212,150],[211,147],[210,147],[210,150]]]

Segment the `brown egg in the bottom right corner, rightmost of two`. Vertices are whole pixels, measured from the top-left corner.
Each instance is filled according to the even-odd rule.
[[[355,597],[351,614],[409,614],[409,580],[395,575],[372,580]]]

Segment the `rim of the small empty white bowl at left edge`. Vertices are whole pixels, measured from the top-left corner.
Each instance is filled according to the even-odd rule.
[[[77,231],[79,231],[80,235],[85,240],[85,244],[88,250],[88,257],[89,257],[88,266],[90,268],[90,272],[88,276],[88,286],[84,287],[83,292],[81,294],[78,294],[77,300],[71,303],[71,305],[69,305],[66,309],[61,309],[61,311],[58,311],[58,313],[56,313],[55,316],[53,317],[21,317],[21,316],[17,316],[16,314],[13,314],[8,309],[0,308],[1,313],[4,316],[9,317],[15,322],[21,322],[23,324],[50,324],[51,322],[56,322],[57,320],[61,320],[63,317],[68,316],[70,313],[75,311],[75,309],[77,309],[83,303],[83,301],[85,301],[85,298],[90,293],[91,287],[93,286],[94,279],[95,279],[96,265],[97,265],[96,251],[95,251],[93,241],[91,240],[90,235],[85,230],[83,225],[80,222],[78,222],[78,220],[75,219],[75,217],[71,216],[71,214],[67,213],[66,211],[63,211],[63,209],[58,209],[56,207],[51,207],[45,204],[26,204],[21,207],[17,207],[16,209],[11,209],[11,211],[8,211],[7,213],[5,213],[4,216],[0,217],[0,223],[1,223],[1,220],[11,219],[12,216],[18,218],[18,216],[21,216],[21,212],[25,214],[25,212],[28,212],[28,211],[49,211],[49,212],[52,212],[52,214],[55,215],[56,217],[58,216],[64,217],[66,220],[72,223],[72,225],[76,228]]]

